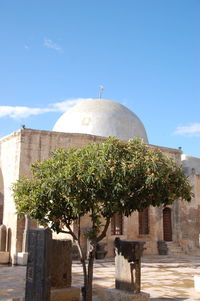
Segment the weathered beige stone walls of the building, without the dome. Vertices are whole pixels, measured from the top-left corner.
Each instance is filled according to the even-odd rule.
[[[39,131],[23,129],[0,140],[0,210],[4,204],[3,223],[11,233],[11,257],[22,250],[24,219],[17,219],[15,204],[11,192],[11,184],[21,176],[30,176],[30,165],[37,160],[44,160],[51,155],[56,148],[81,147],[90,142],[103,141],[104,138],[86,135],[69,134],[52,131]],[[170,148],[152,146],[165,154],[173,157],[178,164],[181,163],[181,152]],[[191,175],[190,180],[194,185],[195,198],[187,204],[175,201],[170,206],[172,210],[173,240],[190,250],[193,246],[198,247],[200,229],[200,179],[198,175]],[[0,216],[1,218],[1,216]],[[1,220],[0,220],[1,222]],[[36,224],[33,222],[33,226]],[[86,231],[90,227],[88,217],[81,219],[81,227]],[[192,229],[192,230],[191,230]],[[192,235],[191,235],[192,233]],[[54,238],[70,238],[66,234],[53,234]],[[106,243],[107,256],[114,254],[114,239],[111,235],[111,227],[103,242]],[[149,234],[139,234],[138,213],[123,219],[123,235],[121,239],[145,241],[147,248],[145,253],[156,254],[157,241],[163,239],[163,208],[149,208]],[[87,251],[87,240],[82,239],[82,244]]]

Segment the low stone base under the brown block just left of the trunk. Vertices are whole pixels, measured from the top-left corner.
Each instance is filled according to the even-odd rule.
[[[56,288],[51,289],[50,301],[79,301],[80,288],[68,287],[68,288]]]

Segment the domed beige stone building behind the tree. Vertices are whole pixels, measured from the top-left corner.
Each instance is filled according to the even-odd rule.
[[[14,264],[26,261],[27,221],[15,213],[12,183],[21,176],[30,176],[31,163],[48,158],[58,147],[81,147],[108,136],[121,140],[140,137],[148,143],[145,128],[134,113],[119,103],[103,99],[79,103],[60,117],[52,131],[21,129],[0,139],[0,224],[5,225],[0,226],[0,261],[3,253]],[[153,147],[172,156],[179,164],[182,161],[195,197],[190,203],[176,200],[167,208],[150,207],[128,218],[115,215],[104,239],[107,256],[113,256],[116,236],[145,241],[145,252],[149,254],[158,254],[157,242],[164,241],[169,252],[200,255],[200,158],[182,155],[177,149]],[[32,222],[31,226],[36,225]],[[84,217],[82,228],[88,226],[88,219]],[[6,241],[3,241],[3,232]],[[87,247],[86,241],[84,244]]]

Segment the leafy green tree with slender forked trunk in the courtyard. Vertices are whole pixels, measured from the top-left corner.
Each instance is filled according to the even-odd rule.
[[[32,178],[13,185],[17,212],[29,214],[56,232],[69,233],[77,243],[84,273],[84,300],[92,300],[93,262],[97,243],[115,213],[131,215],[146,207],[191,199],[187,177],[171,158],[139,139],[108,138],[80,149],[56,150],[32,165]],[[91,242],[88,265],[74,221],[88,214]],[[80,225],[80,223],[79,223]]]

